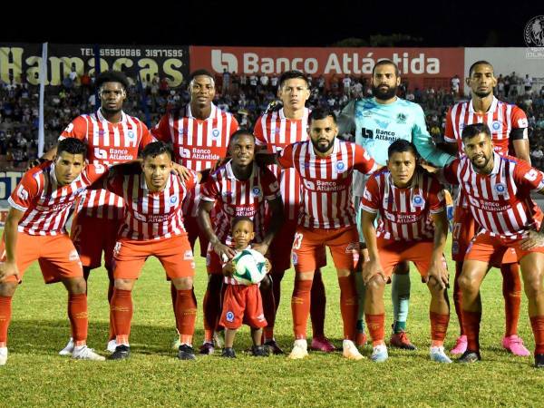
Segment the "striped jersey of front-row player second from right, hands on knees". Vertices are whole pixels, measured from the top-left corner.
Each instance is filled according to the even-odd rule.
[[[395,241],[432,241],[431,214],[445,209],[442,186],[421,167],[413,173],[411,187],[395,187],[388,169],[374,173],[364,186],[361,206],[380,213],[376,236]]]

